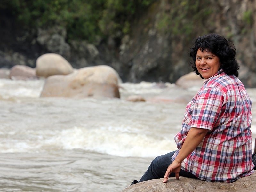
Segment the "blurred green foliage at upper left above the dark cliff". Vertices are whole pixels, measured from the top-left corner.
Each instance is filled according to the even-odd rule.
[[[97,36],[128,33],[130,22],[155,0],[3,0],[0,11],[9,10],[24,27],[67,29],[68,39],[95,41]]]

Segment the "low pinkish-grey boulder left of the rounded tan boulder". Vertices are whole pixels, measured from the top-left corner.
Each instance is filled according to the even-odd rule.
[[[10,79],[12,80],[29,80],[38,79],[36,69],[26,65],[15,65],[10,70]]]

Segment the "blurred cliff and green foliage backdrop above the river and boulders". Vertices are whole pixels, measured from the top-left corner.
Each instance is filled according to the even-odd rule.
[[[2,0],[0,67],[57,53],[74,68],[111,66],[124,82],[173,83],[191,71],[193,39],[218,33],[255,87],[255,11],[255,0]]]

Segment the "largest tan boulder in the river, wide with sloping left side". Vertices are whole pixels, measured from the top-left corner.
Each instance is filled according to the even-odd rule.
[[[41,97],[117,97],[117,72],[106,65],[85,67],[69,75],[54,75],[46,79]]]

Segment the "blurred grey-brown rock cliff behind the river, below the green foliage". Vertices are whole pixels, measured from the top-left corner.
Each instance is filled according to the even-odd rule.
[[[191,71],[188,52],[193,39],[219,33],[235,44],[239,78],[246,87],[256,87],[255,12],[256,0],[159,0],[137,14],[129,34],[113,34],[95,44],[66,42],[67,31],[58,26],[21,30],[2,15],[0,67],[35,67],[42,54],[57,53],[74,68],[109,65],[124,82],[174,83]]]

